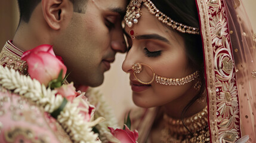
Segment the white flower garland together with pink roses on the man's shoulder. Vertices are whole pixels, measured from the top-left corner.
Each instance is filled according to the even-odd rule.
[[[20,95],[51,114],[73,142],[100,142],[92,128],[104,119],[93,120],[94,106],[73,83],[64,85],[66,66],[53,52],[51,45],[41,45],[24,52],[30,76],[0,66],[0,85]]]

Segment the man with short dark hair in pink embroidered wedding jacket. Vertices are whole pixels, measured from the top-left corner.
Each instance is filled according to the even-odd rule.
[[[23,52],[50,44],[70,72],[68,81],[99,86],[116,52],[126,51],[121,26],[126,5],[126,0],[18,0],[20,22],[0,52],[0,65],[27,74]],[[2,90],[0,86],[0,142],[71,142],[42,108]]]

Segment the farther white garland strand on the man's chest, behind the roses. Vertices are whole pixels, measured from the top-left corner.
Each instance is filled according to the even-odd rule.
[[[97,117],[104,117],[106,119],[104,122],[99,123],[96,128],[100,132],[100,140],[103,143],[107,142],[118,142],[116,141],[115,137],[110,133],[109,129],[107,127],[111,128],[119,128],[118,121],[113,116],[113,110],[109,107],[106,100],[104,100],[104,97],[98,90],[95,90],[93,88],[88,89],[88,91],[85,94],[88,97],[88,100],[92,105],[96,107],[95,111],[95,119]]]

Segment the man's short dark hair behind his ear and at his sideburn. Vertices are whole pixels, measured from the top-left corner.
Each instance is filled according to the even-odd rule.
[[[31,14],[41,0],[17,0],[20,10],[20,21],[29,22]],[[76,13],[85,13],[85,6],[88,0],[69,0],[73,3],[73,11]]]

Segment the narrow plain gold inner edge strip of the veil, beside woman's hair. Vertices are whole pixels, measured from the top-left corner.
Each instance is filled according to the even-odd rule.
[[[211,122],[208,122],[211,133],[211,142],[218,141],[217,128],[217,101],[215,92],[215,74],[214,74],[214,55],[211,41],[211,30],[209,27],[208,10],[205,0],[197,0],[199,16],[201,17],[201,35],[203,38],[203,50],[205,55],[206,84],[208,92],[208,116]]]

